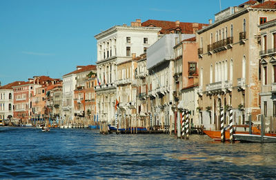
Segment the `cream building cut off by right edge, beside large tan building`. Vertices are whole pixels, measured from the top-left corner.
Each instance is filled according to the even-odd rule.
[[[259,56],[262,64],[261,109],[264,117],[276,117],[276,19],[260,24],[259,30]]]

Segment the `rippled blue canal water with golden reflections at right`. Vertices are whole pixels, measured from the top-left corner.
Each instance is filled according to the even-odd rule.
[[[0,128],[0,179],[275,179],[276,144]]]

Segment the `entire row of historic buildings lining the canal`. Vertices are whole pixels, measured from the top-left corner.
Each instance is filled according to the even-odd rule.
[[[175,128],[181,112],[188,112],[191,124],[219,130],[221,109],[225,124],[230,109],[236,124],[245,124],[248,115],[253,121],[259,114],[275,117],[275,11],[276,1],[251,0],[218,12],[208,24],[137,19],[113,26],[95,35],[96,66],[77,66],[62,83],[51,83],[59,103],[55,90],[43,88],[35,77],[29,83],[44,90],[46,102],[54,99],[50,114],[63,121],[115,125],[127,118]],[[26,119],[39,114],[39,108],[30,108],[31,102],[37,106],[35,100],[19,107],[17,86],[12,87],[12,110],[28,109]],[[21,111],[14,118],[20,113],[22,118]]]

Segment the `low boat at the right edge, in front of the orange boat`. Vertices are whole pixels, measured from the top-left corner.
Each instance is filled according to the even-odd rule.
[[[233,137],[242,143],[276,143],[276,137],[266,135],[262,137],[259,134],[233,134]]]

